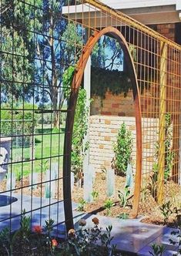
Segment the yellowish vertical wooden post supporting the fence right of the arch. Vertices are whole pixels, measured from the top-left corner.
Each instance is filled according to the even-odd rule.
[[[166,57],[167,45],[161,42],[160,56],[160,90],[159,90],[159,163],[157,200],[163,204],[163,186],[165,169],[165,136],[166,136]]]

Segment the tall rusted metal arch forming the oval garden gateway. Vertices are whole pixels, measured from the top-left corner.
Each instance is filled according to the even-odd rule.
[[[82,82],[82,76],[86,63],[91,55],[93,47],[102,35],[110,35],[119,42],[125,55],[126,64],[129,68],[129,76],[132,81],[132,93],[136,113],[136,180],[132,206],[132,217],[136,217],[139,209],[139,195],[142,179],[142,119],[139,99],[139,87],[136,79],[136,70],[129,52],[129,46],[126,39],[118,29],[107,27],[100,32],[95,32],[86,43],[82,56],[79,59],[75,75],[72,80],[72,90],[69,98],[69,106],[67,120],[65,125],[65,143],[64,143],[64,159],[63,159],[63,196],[66,230],[69,231],[73,227],[72,218],[72,196],[71,196],[71,151],[72,151],[72,132],[75,116],[75,106],[79,94],[79,88]]]

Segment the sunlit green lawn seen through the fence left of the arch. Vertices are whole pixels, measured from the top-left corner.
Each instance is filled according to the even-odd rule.
[[[64,143],[64,130],[61,130],[59,134],[47,134],[51,130],[36,130],[35,136],[35,160],[31,159],[30,147],[22,149],[22,147],[12,149],[12,172],[23,173],[23,176],[27,176],[31,171],[41,172],[50,167],[50,158],[52,157],[52,163],[59,162],[59,166],[62,166],[63,143]],[[43,159],[43,160],[42,160]],[[17,163],[22,162],[22,163]]]

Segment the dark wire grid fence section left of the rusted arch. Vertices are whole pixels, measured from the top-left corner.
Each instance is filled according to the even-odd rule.
[[[62,55],[66,42],[59,27],[62,22],[63,33],[67,26],[60,16],[63,2],[53,4],[0,4],[0,230],[15,231],[25,210],[32,229],[52,218],[55,234],[64,236],[62,163],[67,103],[62,73],[72,62]]]

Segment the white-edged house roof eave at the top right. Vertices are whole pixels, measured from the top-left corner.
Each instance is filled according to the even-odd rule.
[[[142,24],[176,23],[181,20],[181,0],[99,0]],[[63,8],[64,13],[95,12],[90,5],[72,5]]]

